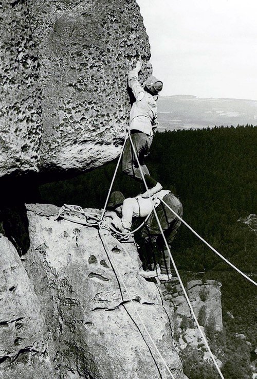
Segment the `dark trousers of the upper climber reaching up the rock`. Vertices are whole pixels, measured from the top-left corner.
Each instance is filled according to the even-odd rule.
[[[142,172],[144,175],[149,175],[149,170],[144,164],[144,158],[149,154],[153,137],[150,137],[143,132],[131,131],[131,138]],[[133,147],[131,146],[131,141],[128,138],[122,155],[122,172],[126,175],[134,177],[135,179],[142,180],[142,175],[136,156],[134,154]]]

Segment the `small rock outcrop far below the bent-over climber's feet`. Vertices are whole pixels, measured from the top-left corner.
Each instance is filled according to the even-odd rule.
[[[186,290],[193,310],[204,334],[222,331],[221,283],[215,280],[190,280]],[[191,316],[177,278],[169,284],[162,284],[161,291],[170,318],[173,320],[175,346],[178,351],[187,347],[196,348],[209,360],[203,337]],[[219,362],[222,365],[221,362]]]

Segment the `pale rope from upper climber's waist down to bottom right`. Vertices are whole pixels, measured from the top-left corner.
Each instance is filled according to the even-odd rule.
[[[142,180],[143,180],[143,182],[144,182],[144,186],[145,186],[145,188],[146,188],[146,191],[148,191],[148,193],[149,193],[149,188],[148,188],[148,186],[146,185],[146,182],[145,182],[145,179],[144,179],[144,175],[143,175],[143,172],[142,172],[142,169],[141,169],[141,166],[140,166],[140,163],[139,163],[139,160],[138,160],[137,154],[136,154],[136,150],[135,150],[135,147],[134,147],[134,144],[133,144],[133,141],[132,141],[131,135],[129,135],[129,136],[130,136],[131,146],[132,146],[132,148],[133,148],[133,151],[134,151],[135,157],[136,157],[136,159],[137,159],[137,164],[138,164],[138,167],[139,167],[139,169],[140,169],[140,173],[141,173],[141,176],[142,176]],[[221,376],[222,379],[225,379],[224,376],[223,376],[223,374],[222,374],[222,372],[221,372],[221,370],[219,369],[218,364],[217,364],[217,362],[216,362],[216,359],[215,359],[215,357],[214,357],[214,355],[213,355],[213,353],[212,353],[212,351],[211,351],[211,349],[210,349],[210,347],[209,347],[209,344],[208,344],[208,341],[207,341],[207,339],[206,339],[206,336],[204,335],[204,333],[203,333],[203,331],[201,330],[200,325],[199,325],[199,323],[198,323],[198,321],[197,321],[197,318],[196,318],[196,315],[195,315],[195,313],[194,313],[194,310],[193,310],[193,307],[192,307],[192,305],[191,305],[191,302],[190,302],[190,300],[189,300],[189,297],[188,297],[188,294],[187,294],[186,288],[184,287],[183,282],[182,282],[182,280],[181,280],[181,278],[180,278],[180,275],[179,275],[179,272],[178,272],[177,266],[176,266],[176,264],[175,264],[175,262],[174,262],[174,259],[173,259],[173,257],[172,257],[172,254],[171,254],[170,247],[169,247],[169,245],[168,245],[168,242],[167,242],[167,240],[166,240],[166,237],[164,236],[164,233],[163,233],[163,230],[162,230],[162,227],[161,227],[161,224],[160,224],[160,220],[159,220],[158,215],[157,215],[157,213],[156,213],[156,210],[155,210],[155,208],[154,208],[154,203],[153,203],[153,200],[152,200],[152,198],[151,198],[151,196],[150,196],[150,193],[149,193],[149,198],[150,198],[150,201],[151,201],[151,204],[152,204],[152,208],[153,208],[153,211],[154,211],[154,214],[155,214],[156,221],[157,221],[158,226],[159,226],[159,228],[160,228],[160,232],[161,232],[161,235],[162,235],[163,241],[164,241],[164,243],[166,244],[166,247],[167,247],[167,250],[168,250],[168,253],[169,253],[170,259],[171,259],[171,261],[172,261],[172,264],[173,264],[173,266],[174,266],[174,269],[175,269],[176,275],[177,275],[177,277],[178,277],[179,283],[180,283],[180,285],[181,285],[181,287],[182,287],[183,293],[184,293],[184,295],[185,295],[185,297],[186,297],[186,300],[187,300],[187,302],[188,302],[188,305],[189,305],[189,308],[190,308],[190,311],[191,311],[191,315],[193,316],[193,318],[194,318],[194,320],[195,320],[195,323],[196,323],[196,325],[197,325],[197,328],[199,329],[199,332],[200,332],[201,336],[203,337],[203,340],[204,340],[204,342],[205,342],[205,345],[206,345],[206,347],[207,347],[207,350],[208,350],[209,353],[210,353],[210,356],[211,356],[211,358],[212,358],[212,361],[213,361],[213,363],[214,363],[214,366],[215,366],[216,369],[217,369],[217,372],[218,372],[219,376]]]

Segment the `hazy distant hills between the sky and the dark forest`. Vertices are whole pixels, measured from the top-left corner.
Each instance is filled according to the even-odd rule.
[[[158,100],[159,128],[213,128],[257,124],[257,100],[201,99],[192,95],[163,96]]]

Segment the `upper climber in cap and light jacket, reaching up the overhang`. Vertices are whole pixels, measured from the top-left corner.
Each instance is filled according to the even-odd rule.
[[[149,170],[144,164],[144,158],[149,154],[153,134],[158,126],[156,100],[163,84],[154,76],[150,76],[142,88],[138,81],[140,70],[141,62],[137,61],[136,68],[128,74],[128,86],[132,89],[136,100],[132,104],[130,112],[130,132],[146,185],[150,190],[150,195],[153,195],[160,191],[162,186],[150,176]],[[142,175],[130,139],[127,139],[123,151],[122,172],[142,181]],[[147,197],[148,192],[146,191],[142,196]]]

